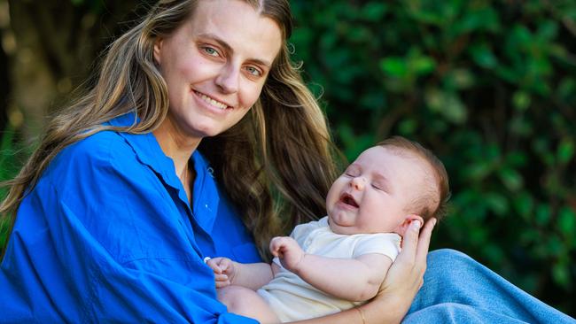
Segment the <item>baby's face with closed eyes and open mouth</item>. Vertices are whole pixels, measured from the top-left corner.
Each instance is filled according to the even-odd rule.
[[[364,150],[334,181],[326,197],[334,233],[401,232],[409,210],[425,184],[421,158],[399,155],[381,146]]]

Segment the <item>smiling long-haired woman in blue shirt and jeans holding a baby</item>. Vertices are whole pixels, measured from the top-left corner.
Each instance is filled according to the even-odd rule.
[[[16,214],[0,268],[3,320],[253,322],[216,301],[203,259],[259,260],[270,236],[323,214],[334,174],[290,34],[285,0],[163,0],[113,42],[94,89],[51,121],[0,207]],[[377,298],[312,322],[400,321],[422,284],[434,221],[420,235],[419,225]],[[431,267],[461,260],[463,274],[429,271],[412,314],[482,315],[501,285],[482,282],[486,292],[464,302],[468,290],[434,284],[497,277],[455,252],[431,258],[449,260]],[[537,308],[502,311],[510,319],[564,319],[510,297],[518,291],[502,292],[502,309]]]

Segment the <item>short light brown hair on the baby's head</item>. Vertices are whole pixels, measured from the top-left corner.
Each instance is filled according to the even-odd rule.
[[[421,194],[410,204],[415,213],[420,215],[424,221],[432,217],[437,220],[446,216],[448,199],[450,198],[450,188],[448,185],[448,173],[439,158],[431,150],[425,149],[419,143],[409,141],[401,136],[393,136],[377,144],[385,149],[391,150],[395,154],[406,156],[412,155],[424,161],[432,170],[431,177],[424,179],[429,186],[421,188]]]

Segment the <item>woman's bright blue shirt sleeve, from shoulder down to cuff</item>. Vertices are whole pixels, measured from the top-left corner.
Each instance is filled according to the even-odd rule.
[[[87,149],[53,161],[21,204],[0,278],[12,285],[0,289],[12,293],[6,311],[39,322],[255,323],[216,300],[177,193],[129,150]]]

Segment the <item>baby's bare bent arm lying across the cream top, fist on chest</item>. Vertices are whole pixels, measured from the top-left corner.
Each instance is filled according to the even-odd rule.
[[[282,266],[335,297],[364,301],[376,296],[392,259],[370,253],[357,258],[325,258],[307,254],[291,237],[275,237],[270,251]]]

